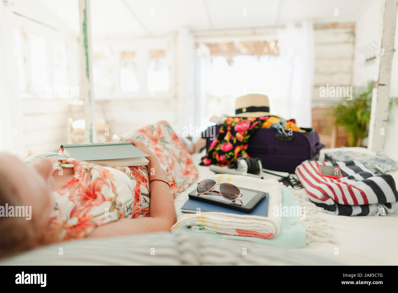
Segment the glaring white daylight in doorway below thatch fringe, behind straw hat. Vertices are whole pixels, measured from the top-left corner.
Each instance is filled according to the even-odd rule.
[[[287,116],[283,95],[283,63],[276,56],[213,57],[207,71],[207,118],[219,114],[234,114],[235,98],[245,94],[266,94],[272,114]]]

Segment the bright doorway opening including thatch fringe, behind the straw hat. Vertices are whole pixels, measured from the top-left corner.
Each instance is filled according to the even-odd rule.
[[[265,94],[272,114],[287,112],[283,62],[276,40],[241,40],[197,43],[203,54],[197,62],[201,92],[205,92],[201,112],[206,113],[201,126],[207,127],[211,116],[235,114],[235,99],[256,93]],[[198,81],[197,81],[198,82]]]

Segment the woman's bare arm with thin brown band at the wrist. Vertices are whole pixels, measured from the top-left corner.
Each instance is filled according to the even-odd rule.
[[[149,180],[166,180],[162,168],[160,167],[158,157],[156,157],[143,142],[131,138],[127,140],[144,153],[151,155],[148,158],[149,163],[147,165]],[[110,222],[94,229],[87,237],[109,237],[156,231],[170,231],[170,228],[177,221],[174,200],[170,188],[166,183],[157,180],[152,181],[149,188],[149,217],[120,219],[115,222]]]

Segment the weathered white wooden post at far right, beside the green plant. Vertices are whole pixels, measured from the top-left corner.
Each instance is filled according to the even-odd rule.
[[[371,120],[369,123],[369,149],[384,150],[385,130],[390,101],[390,79],[398,0],[384,0],[379,26],[379,70],[372,94]]]

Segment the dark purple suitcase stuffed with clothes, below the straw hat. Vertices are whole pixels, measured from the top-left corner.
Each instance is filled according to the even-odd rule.
[[[213,138],[206,137],[206,149],[217,136],[220,125],[210,126],[205,133],[215,134]],[[313,128],[302,128],[306,132],[293,131],[293,135],[279,134],[276,129],[259,128],[250,137],[247,153],[250,157],[263,160],[265,169],[295,173],[300,163],[308,159],[317,159],[319,151],[326,145],[319,140]]]

